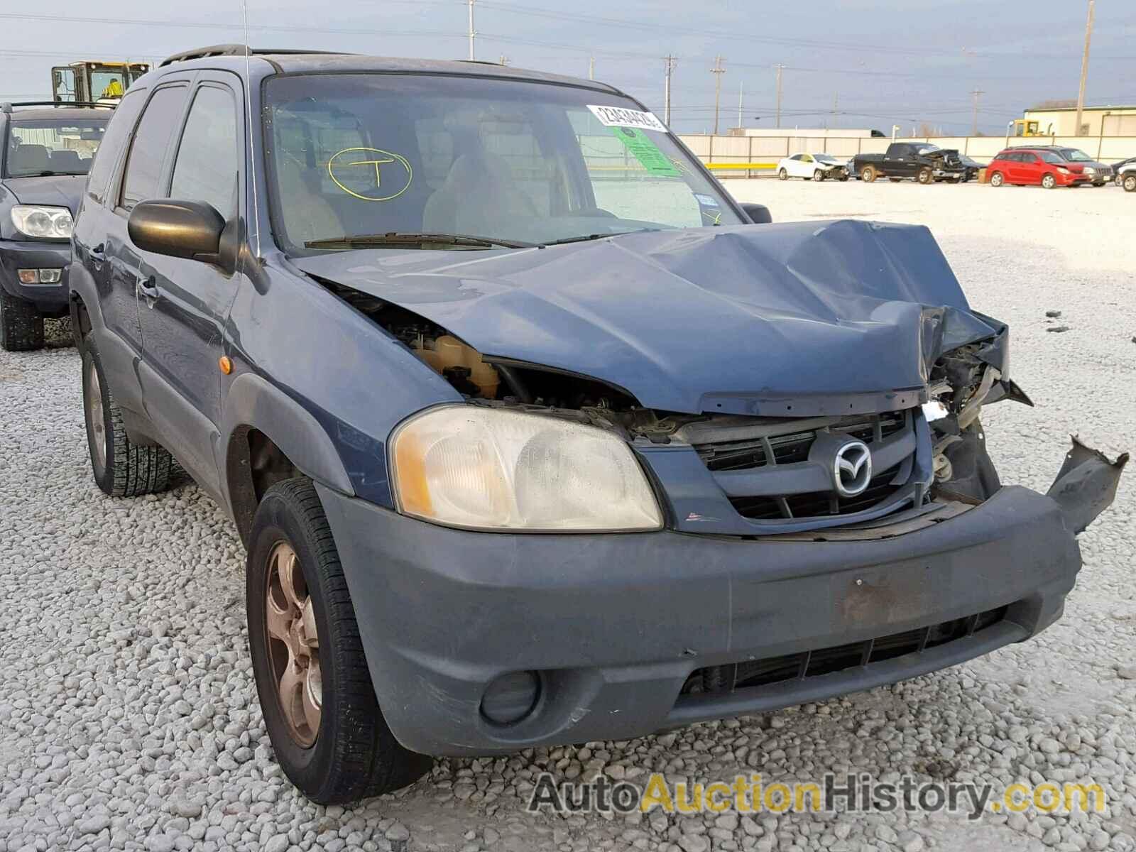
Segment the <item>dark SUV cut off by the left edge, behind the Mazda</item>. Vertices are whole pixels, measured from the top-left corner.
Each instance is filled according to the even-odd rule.
[[[72,217],[110,110],[0,103],[0,348],[43,345],[67,316]]]

